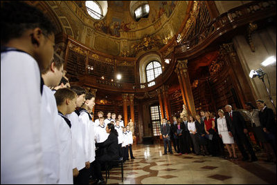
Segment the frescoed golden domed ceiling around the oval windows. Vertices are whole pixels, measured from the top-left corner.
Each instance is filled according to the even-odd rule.
[[[107,1],[107,14],[100,20],[89,16],[85,1],[46,1],[67,35],[94,50],[123,57],[161,49],[175,38],[186,17],[187,1],[144,2],[149,15],[136,21],[132,5],[142,1]]]

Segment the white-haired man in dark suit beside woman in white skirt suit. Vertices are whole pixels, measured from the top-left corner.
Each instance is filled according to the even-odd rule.
[[[242,153],[242,161],[249,160],[249,156],[247,155],[244,146],[247,147],[248,152],[251,155],[251,162],[256,162],[258,159],[254,153],[254,150],[246,136],[248,133],[246,123],[244,121],[244,118],[238,111],[233,111],[232,106],[226,105],[226,123],[228,130],[231,131],[233,138],[235,139],[235,142],[238,145],[238,148],[240,149],[240,152]]]

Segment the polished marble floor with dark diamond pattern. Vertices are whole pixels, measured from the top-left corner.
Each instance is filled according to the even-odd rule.
[[[238,151],[238,149],[237,149]],[[257,152],[257,162],[202,155],[163,155],[163,145],[133,146],[136,159],[120,168],[112,168],[107,184],[276,184],[276,164],[264,162]],[[239,153],[239,152],[238,152]],[[105,172],[103,172],[105,178]]]

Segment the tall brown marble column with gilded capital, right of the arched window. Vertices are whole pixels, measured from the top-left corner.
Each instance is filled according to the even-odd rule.
[[[178,75],[179,84],[181,88],[181,93],[183,96],[184,104],[188,113],[195,116],[195,102],[193,99],[193,91],[191,90],[190,77],[188,75],[188,60],[177,61],[177,66],[175,72]]]

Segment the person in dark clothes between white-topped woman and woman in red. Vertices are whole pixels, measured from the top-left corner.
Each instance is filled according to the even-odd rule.
[[[204,121],[202,121],[202,119],[200,118],[199,115],[196,115],[195,116],[196,120],[195,120],[195,127],[196,127],[196,130],[197,130],[197,133],[199,135],[199,145],[200,145],[200,150],[201,150],[201,153],[203,156],[205,155],[209,155],[208,153],[208,149],[207,149],[207,139],[205,137],[205,124],[204,124]]]

